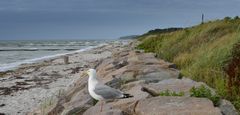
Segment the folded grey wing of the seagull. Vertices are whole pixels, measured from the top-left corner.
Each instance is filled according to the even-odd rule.
[[[94,89],[94,92],[97,95],[101,95],[104,99],[117,99],[123,97],[123,93],[121,91],[102,84],[98,84]]]

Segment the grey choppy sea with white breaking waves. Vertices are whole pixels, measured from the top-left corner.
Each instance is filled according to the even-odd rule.
[[[82,52],[116,40],[2,40],[0,41],[0,72],[21,64]]]

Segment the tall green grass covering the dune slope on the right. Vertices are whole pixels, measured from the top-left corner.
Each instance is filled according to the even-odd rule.
[[[177,64],[184,76],[203,81],[240,110],[240,19],[226,17],[173,32],[147,33],[138,46]]]

